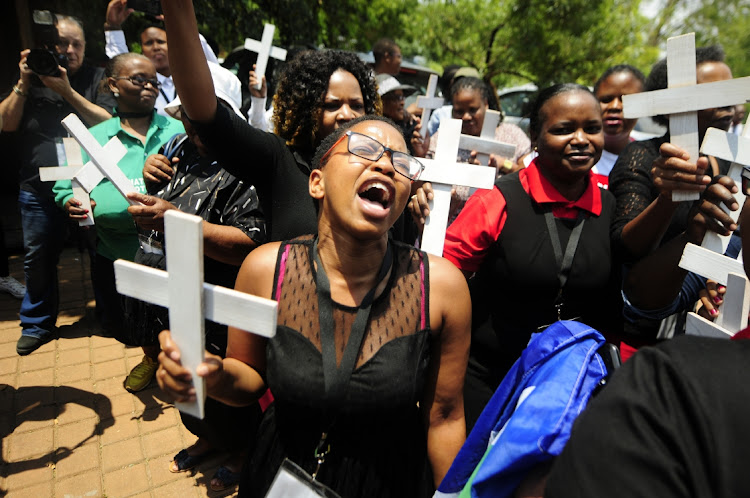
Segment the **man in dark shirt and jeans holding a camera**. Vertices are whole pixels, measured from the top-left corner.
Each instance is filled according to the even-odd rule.
[[[21,157],[18,203],[26,248],[26,295],[20,311],[23,332],[16,344],[19,355],[57,336],[57,262],[67,222],[53,201],[53,182],[39,179],[39,167],[60,164],[57,150],[67,136],[60,121],[65,116],[74,112],[93,126],[111,118],[115,106],[112,94],[100,88],[104,70],[84,64],[86,42],[80,23],[58,16],[56,25],[59,39],[46,46],[46,57],[35,51],[42,63],[28,59],[30,50],[21,52],[18,83],[0,102],[3,132],[18,132]]]

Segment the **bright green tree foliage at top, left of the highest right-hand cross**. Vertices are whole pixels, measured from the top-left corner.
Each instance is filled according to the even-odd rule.
[[[498,86],[592,84],[612,64],[648,66],[637,0],[433,0],[409,30],[414,51],[469,65]]]

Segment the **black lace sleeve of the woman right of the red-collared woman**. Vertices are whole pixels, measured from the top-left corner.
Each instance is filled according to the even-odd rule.
[[[651,166],[667,137],[633,142],[625,147],[609,174],[609,191],[617,200],[611,238],[622,246],[622,229],[659,195],[651,180]]]

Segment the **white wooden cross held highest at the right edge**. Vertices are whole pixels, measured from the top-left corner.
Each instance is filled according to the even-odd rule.
[[[667,40],[668,88],[623,95],[626,119],[669,116],[670,142],[684,149],[690,161],[698,159],[697,111],[744,104],[750,100],[750,77],[696,84],[695,33]],[[672,200],[687,201],[698,192],[675,191]]]

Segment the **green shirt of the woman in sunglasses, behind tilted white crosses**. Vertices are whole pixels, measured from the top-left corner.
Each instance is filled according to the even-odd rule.
[[[117,165],[133,182],[133,187],[138,192],[146,193],[143,183],[143,164],[146,158],[159,152],[159,148],[167,140],[177,133],[184,133],[185,129],[181,122],[154,112],[145,144],[123,130],[120,118],[117,116],[93,126],[89,131],[101,145],[105,145],[114,136],[120,139],[127,153]],[[89,158],[85,152],[82,154],[85,164]],[[70,180],[56,182],[52,191],[55,195],[55,202],[63,209],[65,203],[73,197]],[[99,185],[91,191],[90,196],[96,201],[96,207],[93,209],[97,238],[96,252],[112,261],[116,259],[132,261],[138,250],[138,234],[133,217],[127,211],[128,201],[120,195],[107,178],[99,182]]]

